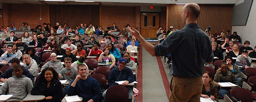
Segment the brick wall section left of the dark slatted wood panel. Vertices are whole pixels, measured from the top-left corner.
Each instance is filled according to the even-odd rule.
[[[21,26],[22,22],[27,22],[31,28],[37,26],[37,22],[43,25],[44,22],[48,23],[49,18],[49,5],[41,5],[40,18],[40,5],[35,4],[3,4],[3,27],[10,26],[14,22],[17,29]]]

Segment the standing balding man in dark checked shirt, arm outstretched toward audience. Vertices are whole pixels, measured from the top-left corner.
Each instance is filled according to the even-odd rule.
[[[182,10],[182,22],[186,26],[156,46],[147,42],[137,30],[128,27],[152,56],[172,54],[169,102],[200,101],[204,64],[212,63],[213,53],[209,36],[197,24],[199,15],[200,7],[196,3],[186,4]]]

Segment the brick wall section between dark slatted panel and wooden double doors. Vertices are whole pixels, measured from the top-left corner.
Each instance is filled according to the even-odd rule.
[[[113,23],[121,30],[127,24],[131,27],[138,26],[138,10],[140,7],[128,7],[128,6],[102,6],[102,27],[111,27]],[[140,14],[139,14],[140,15]],[[139,29],[139,28],[138,28]]]

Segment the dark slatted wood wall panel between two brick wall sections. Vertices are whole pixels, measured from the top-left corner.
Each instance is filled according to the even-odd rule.
[[[50,24],[58,22],[61,26],[67,23],[69,27],[79,26],[80,23],[90,23],[95,27],[100,25],[99,5],[50,5]]]

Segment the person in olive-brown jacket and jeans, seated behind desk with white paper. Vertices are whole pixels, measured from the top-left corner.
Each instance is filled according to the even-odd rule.
[[[230,82],[230,83],[237,85],[235,75],[232,72],[228,71],[228,65],[227,65],[226,61],[223,61],[221,63],[220,68],[217,70],[217,72],[215,74],[214,81],[217,83]],[[231,89],[232,89],[231,87],[221,87],[220,95],[222,97],[224,97],[225,95],[230,97],[230,94],[228,92],[231,91]]]

